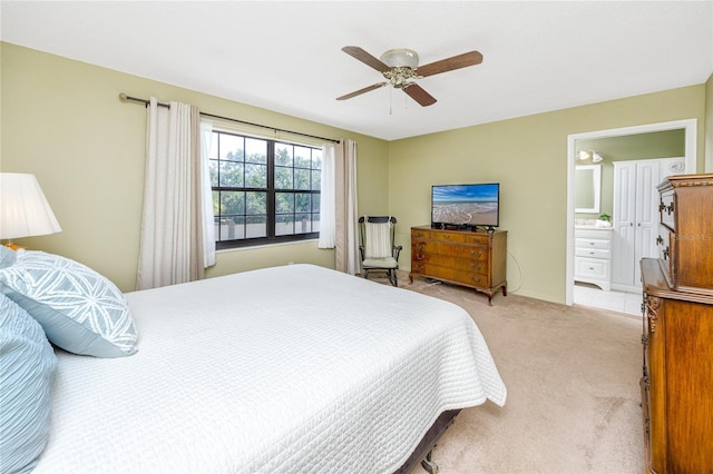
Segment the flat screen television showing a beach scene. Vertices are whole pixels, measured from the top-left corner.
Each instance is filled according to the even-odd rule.
[[[431,226],[492,230],[500,224],[500,184],[431,187]]]

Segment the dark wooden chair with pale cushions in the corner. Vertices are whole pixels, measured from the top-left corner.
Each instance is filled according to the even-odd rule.
[[[399,286],[397,269],[402,247],[394,244],[397,218],[393,216],[362,216],[359,218],[359,253],[364,278],[375,273]]]

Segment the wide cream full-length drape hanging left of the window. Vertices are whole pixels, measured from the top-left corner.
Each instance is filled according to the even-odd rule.
[[[178,102],[158,107],[152,97],[147,111],[137,289],[199,279],[205,268],[198,109]]]

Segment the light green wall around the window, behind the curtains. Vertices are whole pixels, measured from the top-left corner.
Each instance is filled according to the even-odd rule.
[[[58,56],[0,43],[0,170],[37,176],[62,231],[18,239],[65,255],[135,288],[146,110],[119,93],[196,105],[211,113],[358,142],[359,208],[388,211],[388,142]],[[316,241],[219,253],[208,276],[313,263],[334,267]]]

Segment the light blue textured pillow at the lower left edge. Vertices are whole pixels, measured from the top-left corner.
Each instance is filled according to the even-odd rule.
[[[40,325],[0,294],[0,472],[30,471],[47,445],[57,357]]]

